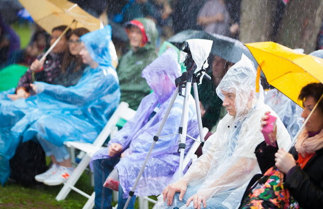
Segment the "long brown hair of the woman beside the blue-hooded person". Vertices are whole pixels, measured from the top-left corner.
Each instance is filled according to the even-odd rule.
[[[86,29],[86,28],[76,28],[76,29],[74,29],[74,30],[72,30],[70,32],[69,37],[71,37],[72,34],[77,35],[78,37],[80,37],[80,36],[82,36],[82,35],[84,35],[84,34],[86,34],[88,32],[90,32],[90,31],[88,29]],[[76,72],[81,68],[81,66],[83,64],[82,58],[78,54],[77,55],[72,55],[70,53],[69,49],[66,50],[66,52],[65,52],[65,54],[63,56],[63,61],[62,61],[62,73],[64,73],[64,74],[66,73],[66,68],[73,61],[76,62],[76,66],[75,66],[73,72]]]

